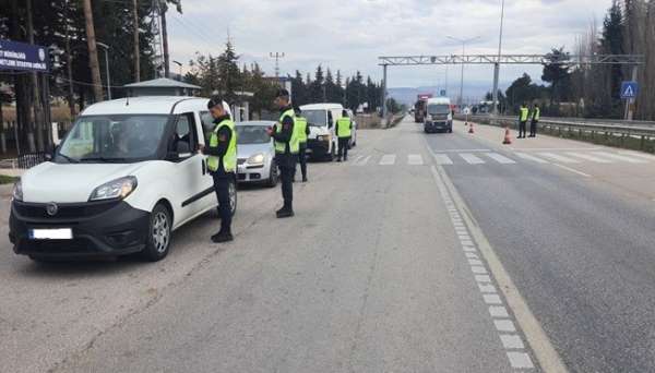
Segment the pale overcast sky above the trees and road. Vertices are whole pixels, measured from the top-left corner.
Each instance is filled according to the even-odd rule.
[[[446,36],[480,36],[467,53],[496,53],[500,0],[182,0],[183,14],[169,12],[171,60],[184,65],[195,51],[218,55],[228,28],[242,62],[274,72],[270,52],[285,52],[283,74],[306,74],[321,63],[345,74],[360,70],[380,80],[379,56],[461,53]],[[503,53],[545,53],[572,48],[575,37],[598,24],[611,0],[507,0]],[[177,65],[171,69],[177,71]],[[449,86],[458,85],[460,67],[448,68]],[[443,86],[444,67],[392,68],[390,87]],[[501,81],[540,67],[502,67]],[[466,67],[466,85],[491,86],[492,68]],[[466,93],[465,93],[466,96]]]

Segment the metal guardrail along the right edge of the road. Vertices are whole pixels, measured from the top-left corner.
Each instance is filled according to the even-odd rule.
[[[463,120],[464,116],[455,116]],[[468,116],[468,120],[490,125],[519,128],[516,117]],[[529,125],[529,123],[528,123]],[[642,152],[655,153],[655,123],[636,122],[626,125],[622,121],[612,123],[581,122],[552,118],[541,118],[538,131],[567,139],[576,139]]]

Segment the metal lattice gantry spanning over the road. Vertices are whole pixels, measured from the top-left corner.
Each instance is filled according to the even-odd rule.
[[[441,55],[441,56],[383,56],[378,58],[383,71],[382,103],[386,103],[386,68],[430,64],[622,64],[632,65],[632,79],[636,81],[636,68],[644,63],[642,55]],[[496,86],[496,84],[495,84]],[[386,106],[382,105],[384,117]]]

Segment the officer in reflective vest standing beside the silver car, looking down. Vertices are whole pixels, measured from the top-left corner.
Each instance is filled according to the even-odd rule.
[[[279,167],[282,179],[282,197],[284,205],[276,212],[278,218],[294,216],[294,171],[300,152],[298,132],[295,129],[295,112],[291,107],[289,92],[279,89],[275,97],[275,105],[279,108],[279,120],[267,130],[269,135],[275,141],[275,161]]]

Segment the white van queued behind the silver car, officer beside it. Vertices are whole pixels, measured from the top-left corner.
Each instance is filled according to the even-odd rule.
[[[334,159],[338,153],[338,142],[334,133],[336,120],[342,117],[341,104],[310,104],[300,107],[309,125],[307,153],[314,159]]]

